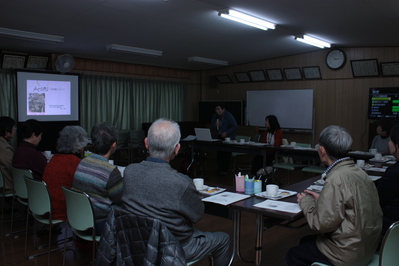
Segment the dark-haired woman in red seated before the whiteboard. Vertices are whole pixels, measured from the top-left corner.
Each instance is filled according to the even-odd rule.
[[[281,130],[280,123],[275,115],[268,115],[265,118],[265,126],[267,130],[262,136],[261,142],[269,145],[280,146],[283,144],[283,131]],[[274,150],[267,150],[266,165],[271,165],[274,160]],[[263,156],[257,155],[254,158],[251,167],[251,173],[256,174],[256,172],[263,167]]]

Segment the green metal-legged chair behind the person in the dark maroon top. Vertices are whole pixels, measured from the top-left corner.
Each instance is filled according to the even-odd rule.
[[[15,233],[26,232],[25,230],[13,232],[14,225],[14,209],[15,209],[15,201],[17,200],[22,206],[28,208],[28,190],[26,189],[26,183],[24,180],[24,176],[28,176],[33,179],[32,172],[30,170],[18,169],[15,167],[11,167],[11,174],[14,180],[14,197],[12,201],[12,210],[11,210],[11,229],[10,234],[14,238],[20,237],[22,234],[15,235]],[[27,212],[29,209],[27,209]]]

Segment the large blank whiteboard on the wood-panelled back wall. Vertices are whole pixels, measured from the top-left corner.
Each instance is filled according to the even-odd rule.
[[[246,124],[265,126],[275,115],[281,128],[313,128],[313,89],[247,91]]]

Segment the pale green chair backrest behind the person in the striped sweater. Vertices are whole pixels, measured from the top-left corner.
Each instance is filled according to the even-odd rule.
[[[79,231],[94,229],[94,212],[89,195],[64,186],[62,186],[62,190],[65,195],[69,225]]]

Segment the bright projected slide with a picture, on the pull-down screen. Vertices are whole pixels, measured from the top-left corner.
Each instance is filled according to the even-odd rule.
[[[27,80],[27,115],[70,115],[69,81]]]

